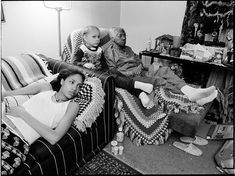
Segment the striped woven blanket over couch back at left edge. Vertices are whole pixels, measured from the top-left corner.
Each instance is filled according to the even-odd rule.
[[[34,54],[2,58],[2,91],[25,87],[49,75],[46,65]]]

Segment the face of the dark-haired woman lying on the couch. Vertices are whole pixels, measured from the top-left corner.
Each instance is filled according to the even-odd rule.
[[[78,94],[82,84],[83,79],[80,74],[70,75],[65,80],[61,80],[60,91],[67,99],[72,99]]]

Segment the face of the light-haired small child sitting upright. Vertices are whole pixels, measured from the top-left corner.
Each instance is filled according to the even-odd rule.
[[[97,47],[100,43],[100,32],[92,29],[84,36],[84,40],[89,46]]]

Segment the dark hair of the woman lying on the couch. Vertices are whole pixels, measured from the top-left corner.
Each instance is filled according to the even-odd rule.
[[[50,82],[51,86],[52,86],[52,89],[54,91],[59,91],[60,88],[61,88],[61,84],[60,84],[60,81],[63,79],[65,80],[67,77],[71,76],[71,75],[76,75],[76,74],[79,74],[81,75],[82,77],[82,81],[85,80],[85,75],[78,71],[78,70],[75,70],[75,69],[63,69],[60,71],[59,75],[57,76],[57,78],[55,78],[54,80],[52,80]]]

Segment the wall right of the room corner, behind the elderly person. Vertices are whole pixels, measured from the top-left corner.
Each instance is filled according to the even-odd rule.
[[[122,1],[120,25],[128,35],[127,44],[139,51],[146,42],[163,34],[180,35],[187,1]]]

